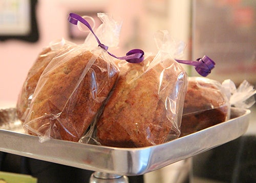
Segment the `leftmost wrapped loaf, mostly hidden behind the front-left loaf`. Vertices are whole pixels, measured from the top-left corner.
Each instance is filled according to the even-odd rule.
[[[37,82],[42,72],[45,70],[47,65],[54,57],[56,57],[58,54],[61,55],[61,52],[67,50],[71,45],[72,44],[70,42],[67,43],[61,40],[59,42],[55,42],[53,45],[44,48],[38,55],[36,61],[30,68],[23,87],[18,95],[16,109],[17,116],[20,121],[24,122],[28,115],[31,99],[33,97]]]

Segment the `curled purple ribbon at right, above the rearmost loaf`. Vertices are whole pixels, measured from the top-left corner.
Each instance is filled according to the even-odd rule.
[[[195,66],[196,71],[202,76],[207,76],[211,72],[211,70],[214,69],[214,65],[215,65],[215,62],[207,56],[203,56],[203,58],[199,58],[197,59],[197,61],[177,60],[177,59],[175,60],[179,63]]]

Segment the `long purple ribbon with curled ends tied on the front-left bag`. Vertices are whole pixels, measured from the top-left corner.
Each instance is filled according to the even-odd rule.
[[[97,42],[98,42],[98,46],[101,47],[102,49],[106,50],[108,52],[109,55],[111,55],[112,57],[115,57],[119,60],[126,60],[127,62],[130,63],[140,63],[144,60],[144,51],[141,49],[132,49],[130,50],[126,56],[124,57],[116,57],[115,55],[109,53],[108,51],[108,46],[102,44],[98,37],[95,35],[95,33],[93,32],[91,25],[88,23],[88,21],[86,21],[85,19],[83,19],[81,16],[75,14],[75,13],[70,13],[69,14],[69,18],[68,18],[70,23],[73,23],[75,25],[77,25],[77,22],[80,21],[81,23],[83,23],[84,25],[86,25],[86,27],[88,27],[88,29],[93,33],[94,37],[96,38]]]

